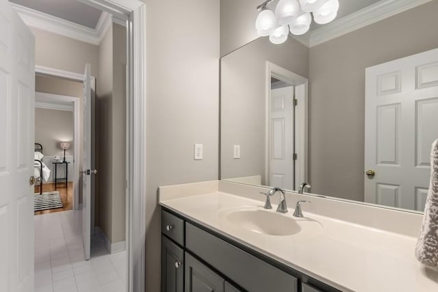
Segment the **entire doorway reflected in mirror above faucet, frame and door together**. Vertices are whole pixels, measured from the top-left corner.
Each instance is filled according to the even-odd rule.
[[[266,62],[266,184],[307,181],[307,79]]]

